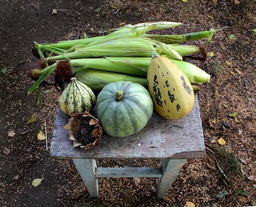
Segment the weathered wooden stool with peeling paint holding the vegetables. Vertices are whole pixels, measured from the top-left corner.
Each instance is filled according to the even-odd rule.
[[[92,115],[95,116],[96,110]],[[125,138],[106,134],[100,147],[85,150],[73,148],[73,142],[63,128],[70,116],[58,107],[52,136],[50,155],[54,158],[72,159],[90,196],[99,194],[97,178],[159,178],[157,198],[164,198],[186,159],[204,158],[205,146],[202,123],[195,93],[192,111],[179,120],[167,120],[154,111],[152,118],[141,131]],[[97,167],[96,160],[162,160],[160,167]]]

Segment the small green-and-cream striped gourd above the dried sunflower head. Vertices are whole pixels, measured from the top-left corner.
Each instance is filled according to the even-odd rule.
[[[87,85],[71,78],[70,83],[58,98],[61,111],[70,116],[75,113],[90,111],[96,104],[96,97]]]

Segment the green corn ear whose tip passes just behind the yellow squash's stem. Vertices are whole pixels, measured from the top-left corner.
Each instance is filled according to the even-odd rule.
[[[111,40],[99,45],[87,46],[71,53],[61,54],[45,58],[51,60],[71,60],[79,58],[96,58],[104,56],[139,56],[150,57],[151,53],[156,51],[159,55],[165,55],[172,59],[182,60],[182,57],[168,45],[141,37],[126,37],[117,40]]]

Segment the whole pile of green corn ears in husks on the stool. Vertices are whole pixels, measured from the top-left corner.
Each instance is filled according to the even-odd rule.
[[[101,90],[108,83],[119,80],[132,81],[147,87],[146,75],[153,51],[170,58],[184,71],[192,85],[209,82],[209,74],[189,62],[182,61],[184,56],[201,53],[202,48],[180,43],[205,39],[206,48],[212,36],[224,28],[181,35],[147,34],[148,31],[179,26],[184,24],[146,22],[112,29],[106,36],[85,36],[83,39],[60,41],[56,44],[35,42],[36,50],[44,61],[40,65],[45,67],[33,71],[39,78],[28,93],[32,93],[37,87],[40,89],[41,83],[63,60],[69,62],[73,76],[94,90]],[[55,62],[48,65],[49,61]]]

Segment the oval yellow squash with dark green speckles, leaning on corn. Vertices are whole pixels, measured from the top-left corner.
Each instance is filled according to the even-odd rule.
[[[176,120],[192,110],[195,102],[192,85],[185,73],[169,58],[153,52],[147,80],[155,110],[162,117]]]

